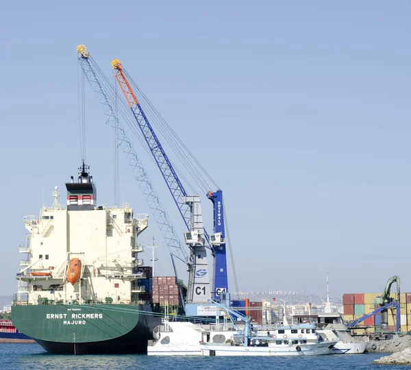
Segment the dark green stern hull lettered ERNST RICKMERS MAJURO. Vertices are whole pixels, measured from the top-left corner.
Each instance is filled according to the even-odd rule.
[[[12,321],[50,353],[144,354],[160,317],[150,305],[12,306]]]

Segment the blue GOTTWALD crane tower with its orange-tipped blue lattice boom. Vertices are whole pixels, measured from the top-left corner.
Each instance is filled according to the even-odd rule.
[[[155,159],[155,163],[157,163],[157,166],[160,169],[164,181],[171,192],[171,196],[173,196],[175,204],[177,204],[177,208],[182,215],[186,227],[190,230],[190,207],[185,202],[187,192],[184,189],[182,182],[179,180],[177,172],[173,168],[173,164],[166,155],[160,140],[158,140],[158,136],[155,134],[136,94],[134,94],[132,85],[129,83],[130,78],[123,66],[121,66],[121,62],[114,59],[112,61],[112,67],[114,68],[114,76],[116,77],[125,96],[125,100],[132,111],[132,116],[136,120],[138,127],[140,127],[143,137],[145,137],[149,150]],[[210,191],[208,193],[208,198],[212,200],[214,204],[214,234],[210,238],[206,230],[204,230],[204,235],[214,256],[212,296],[214,300],[219,300],[221,293],[228,292],[223,191],[220,189],[215,192]]]

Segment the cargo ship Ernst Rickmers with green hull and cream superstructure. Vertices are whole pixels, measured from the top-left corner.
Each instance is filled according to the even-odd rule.
[[[141,283],[151,278],[137,243],[148,215],[134,215],[128,204],[97,205],[84,162],[66,191],[66,205],[55,187],[53,205],[25,217],[14,326],[50,353],[146,353],[160,323]]]

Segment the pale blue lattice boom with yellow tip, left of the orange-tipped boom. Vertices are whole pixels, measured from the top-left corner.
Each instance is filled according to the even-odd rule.
[[[97,68],[93,68],[92,60],[90,60],[91,57],[84,45],[79,45],[77,47],[77,57],[84,75],[86,76],[92,90],[95,92],[99,103],[101,104],[105,117],[107,118],[107,122],[110,124],[110,127],[116,137],[117,144],[123,148],[123,153],[125,153],[129,166],[132,168],[134,177],[142,190],[142,194],[145,196],[145,200],[149,205],[151,213],[160,228],[160,232],[162,233],[167,246],[169,246],[173,255],[188,263],[188,255],[186,250],[182,247],[179,237],[177,236],[177,233],[175,232],[175,229],[173,228],[173,225],[171,224],[171,221],[169,220],[169,217],[160,202],[160,198],[158,198],[149,176],[143,168],[136,150],[134,150],[134,147],[132,146],[132,142],[127,137],[127,133],[123,129],[122,124],[119,122],[119,118],[110,103],[108,95],[103,89],[103,85],[97,76]]]

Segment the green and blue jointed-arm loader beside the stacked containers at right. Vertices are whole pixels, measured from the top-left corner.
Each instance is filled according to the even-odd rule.
[[[397,299],[390,297],[391,285],[393,285],[394,282],[397,285]],[[401,321],[400,321],[400,313],[399,313],[400,300],[401,300],[400,279],[399,279],[399,276],[395,275],[392,278],[388,279],[387,285],[384,289],[384,293],[382,293],[382,295],[375,298],[374,302],[378,306],[378,308],[373,310],[373,312],[360,317],[360,319],[357,319],[356,321],[349,323],[347,327],[355,328],[358,325],[358,323],[368,319],[371,316],[381,313],[381,331],[389,332],[388,310],[391,310],[392,315],[394,315],[393,310],[395,309],[396,310],[395,312],[395,332],[401,332]]]

